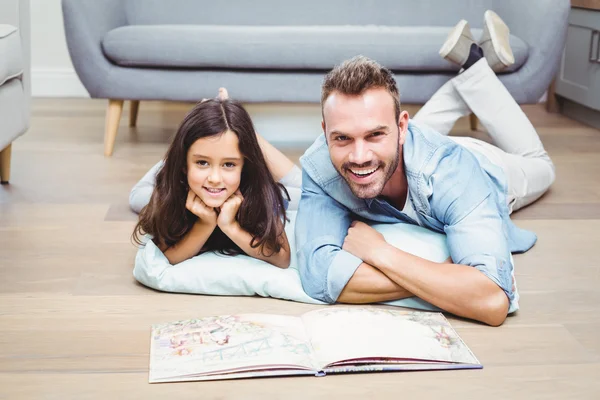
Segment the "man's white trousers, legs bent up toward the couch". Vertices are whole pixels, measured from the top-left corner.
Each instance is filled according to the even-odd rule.
[[[413,118],[443,135],[456,120],[475,114],[495,146],[469,137],[451,137],[504,170],[509,211],[533,203],[554,182],[554,164],[535,128],[482,58],[446,82]]]

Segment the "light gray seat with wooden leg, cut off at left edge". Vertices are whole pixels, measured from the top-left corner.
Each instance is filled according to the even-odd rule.
[[[29,0],[0,1],[0,181],[10,179],[12,142],[29,127]]]

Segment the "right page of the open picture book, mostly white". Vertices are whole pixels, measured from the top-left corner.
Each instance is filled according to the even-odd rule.
[[[302,320],[322,368],[353,359],[479,364],[441,313],[330,307],[308,312]]]

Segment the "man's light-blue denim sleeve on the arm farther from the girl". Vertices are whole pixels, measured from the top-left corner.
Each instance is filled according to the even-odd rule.
[[[444,223],[452,261],[470,265],[496,283],[511,302],[512,312],[517,307],[514,267],[496,189],[467,150],[444,157],[437,171],[430,204],[434,217]]]

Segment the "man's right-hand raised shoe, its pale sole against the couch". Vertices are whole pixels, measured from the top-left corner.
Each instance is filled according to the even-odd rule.
[[[515,63],[510,48],[510,30],[502,18],[491,10],[483,15],[483,34],[479,47],[494,72],[500,72]]]

